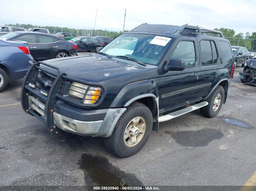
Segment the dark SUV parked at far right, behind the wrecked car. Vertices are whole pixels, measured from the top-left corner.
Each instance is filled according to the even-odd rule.
[[[249,52],[247,48],[242,46],[231,46],[234,58],[234,65],[241,64],[242,67],[246,64],[246,61],[249,59]]]

